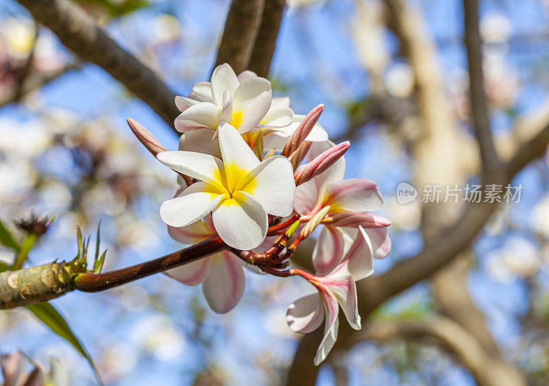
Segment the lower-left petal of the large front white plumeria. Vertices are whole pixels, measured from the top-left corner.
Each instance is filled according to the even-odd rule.
[[[171,200],[164,201],[160,216],[164,223],[172,227],[185,227],[203,218],[229,196],[212,192],[211,185],[197,182]]]

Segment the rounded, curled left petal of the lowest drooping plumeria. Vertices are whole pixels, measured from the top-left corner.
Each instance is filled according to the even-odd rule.
[[[300,334],[313,332],[324,320],[324,307],[318,293],[297,299],[288,307],[286,321],[292,331]]]

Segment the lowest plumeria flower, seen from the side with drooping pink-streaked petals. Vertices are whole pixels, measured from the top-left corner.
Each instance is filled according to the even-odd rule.
[[[373,273],[373,260],[364,261],[360,250],[364,239],[356,239],[344,260],[328,275],[317,276],[292,269],[292,275],[301,275],[311,282],[318,293],[297,299],[288,308],[286,321],[295,332],[306,334],[316,330],[323,321],[324,337],[314,357],[314,364],[319,365],[326,359],[338,337],[338,313],[343,310],[349,325],[360,330],[355,280]]]

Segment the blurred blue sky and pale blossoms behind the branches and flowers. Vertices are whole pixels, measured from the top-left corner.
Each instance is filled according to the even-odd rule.
[[[231,5],[77,3],[178,95],[209,80]],[[440,204],[445,209],[425,216],[425,183],[479,181],[463,25],[456,0],[289,0],[285,9],[270,67],[274,94],[289,95],[301,114],[324,103],[320,124],[334,141],[352,142],[346,177],[379,185],[379,214],[393,221],[393,251],[375,261],[376,274],[421,251],[429,220],[452,222],[463,209],[463,202]],[[480,36],[491,128],[500,154],[510,155],[533,122],[549,120],[549,2],[482,0]],[[174,175],[132,137],[126,117],[176,148],[178,138],[149,106],[69,52],[21,5],[0,4],[0,219],[23,240],[14,220],[32,212],[56,216],[29,264],[73,258],[76,227],[93,235],[99,220],[108,248],[104,270],[179,248],[159,217],[176,188]],[[429,135],[431,128],[439,134]],[[397,202],[401,182],[418,188],[412,203]],[[489,385],[444,337],[397,328],[441,322],[450,323],[441,325],[442,335],[458,337],[457,323],[493,361],[531,385],[547,385],[548,158],[519,172],[512,185],[519,184],[520,201],[495,209],[454,262],[371,314],[371,323],[395,326],[394,333],[371,330],[342,346],[316,383]],[[1,260],[13,258],[0,246]],[[51,304],[108,385],[283,384],[301,338],[286,325],[285,311],[304,284],[246,276],[244,297],[227,315],[209,310],[200,288],[164,275]],[[471,323],[460,320],[467,313]],[[96,382],[86,359],[24,308],[0,313],[0,351],[17,350],[41,363],[56,358],[70,385]]]

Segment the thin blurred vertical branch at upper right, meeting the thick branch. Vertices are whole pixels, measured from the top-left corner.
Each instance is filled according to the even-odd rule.
[[[495,151],[490,128],[488,99],[482,72],[482,41],[478,26],[478,0],[463,0],[465,12],[465,47],[469,65],[469,93],[475,135],[480,146],[484,174],[498,172],[500,159]]]

